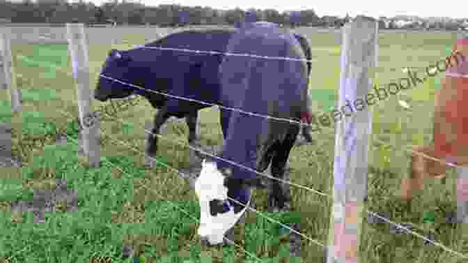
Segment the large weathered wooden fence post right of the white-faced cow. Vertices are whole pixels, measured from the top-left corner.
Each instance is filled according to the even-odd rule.
[[[375,103],[375,96],[367,94],[373,87],[372,74],[377,66],[376,23],[372,17],[359,15],[342,29],[338,102],[342,113],[335,114],[334,204],[330,216],[328,263],[361,262],[359,244],[367,194],[368,137],[372,133],[373,117],[366,101]]]

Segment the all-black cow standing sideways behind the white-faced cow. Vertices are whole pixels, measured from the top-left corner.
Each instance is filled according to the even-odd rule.
[[[228,40],[236,31],[237,29],[183,31],[146,44],[145,47],[172,47],[224,53]],[[305,38],[298,34],[295,34],[295,38],[304,50],[306,58],[310,60],[310,47]],[[153,107],[159,109],[155,114],[151,130],[153,134],[148,135],[146,144],[146,154],[154,157],[157,153],[157,134],[167,119],[173,116],[185,117],[189,128],[188,142],[193,144],[198,141],[196,130],[198,110],[210,106],[168,98],[121,82],[135,84],[148,90],[217,103],[220,89],[217,72],[223,58],[223,54],[150,50],[144,47],[127,51],[111,50],[102,67],[101,77],[95,89],[95,98],[105,101],[110,98],[125,98],[136,93],[147,98]],[[311,63],[307,65],[310,73]],[[303,135],[306,141],[311,142],[309,130],[305,126]]]

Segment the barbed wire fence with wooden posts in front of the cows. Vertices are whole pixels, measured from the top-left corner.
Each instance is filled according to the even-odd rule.
[[[358,95],[365,95],[368,92],[368,89],[372,87],[373,77],[370,75],[370,68],[377,67],[377,36],[378,36],[378,27],[377,23],[373,19],[368,17],[357,17],[358,19],[354,20],[352,23],[347,24],[343,27],[343,48],[341,54],[341,85],[340,85],[340,96],[338,105],[344,105],[346,99],[358,98]],[[81,131],[83,137],[83,146],[84,152],[88,158],[88,163],[91,167],[99,167],[100,165],[100,126],[99,119],[94,118],[92,112],[90,112],[90,103],[91,103],[91,90],[89,89],[89,68],[88,68],[88,48],[86,45],[86,37],[84,34],[84,25],[83,24],[67,24],[67,38],[69,46],[69,54],[72,59],[72,75],[75,78],[77,85],[77,94],[78,94],[78,105],[79,105],[79,121],[81,122]],[[17,95],[18,89],[15,82],[14,68],[11,63],[11,50],[10,44],[8,43],[8,30],[3,30],[1,33],[1,55],[3,58],[3,75],[6,77],[4,87],[10,91],[11,100],[12,100],[12,111],[20,112],[21,103],[20,95]],[[142,47],[146,48],[146,47]],[[148,47],[155,48],[158,47]],[[164,50],[164,48],[160,48]],[[167,50],[167,49],[166,49]],[[181,52],[201,52],[198,50],[172,50],[172,51],[181,51]],[[214,52],[210,51],[210,54]],[[252,56],[249,54],[226,54],[226,55],[242,55],[246,57],[253,57],[256,59],[290,59],[290,58],[267,58],[267,57],[258,57]],[[6,63],[5,63],[6,61]],[[107,77],[101,75],[101,77]],[[138,87],[137,85],[121,82],[113,78],[107,77],[109,80],[120,82],[121,84],[127,84],[130,87],[137,89],[144,89],[143,87]],[[145,89],[146,91],[151,91]],[[173,96],[171,94],[164,93],[163,95],[178,98],[181,100],[191,100],[188,98],[183,98],[180,96]],[[193,101],[193,100],[192,100]],[[207,105],[206,102],[196,101]],[[222,105],[210,105],[219,108],[223,108]],[[226,107],[224,107],[226,108]],[[267,119],[274,119],[275,121],[288,121],[290,123],[297,123],[299,125],[306,125],[297,121],[292,121],[289,119],[279,119],[275,117],[262,116],[254,112],[243,112],[239,109],[226,108],[228,110],[236,110],[244,114],[249,114],[251,116],[260,116]],[[63,112],[64,113],[64,112]],[[91,123],[89,120],[92,119]],[[116,119],[118,120],[118,119]],[[119,121],[119,120],[118,120]],[[364,197],[366,196],[366,184],[367,184],[367,152],[368,152],[368,136],[372,134],[371,132],[372,125],[372,115],[370,111],[361,111],[357,112],[350,119],[346,121],[341,121],[336,127],[336,145],[335,145],[335,162],[334,162],[334,193],[332,195],[321,193],[318,190],[306,186],[300,186],[290,181],[282,181],[283,183],[288,183],[289,185],[308,190],[312,193],[318,195],[332,197],[334,200],[333,209],[331,211],[331,224],[329,230],[329,241],[328,245],[311,239],[309,236],[306,236],[300,232],[296,232],[290,227],[283,225],[280,222],[274,223],[281,224],[283,227],[288,228],[292,232],[296,232],[300,236],[308,239],[312,243],[315,243],[318,246],[327,248],[327,262],[358,262],[359,260],[359,240],[361,232],[361,224],[364,214]],[[145,130],[146,133],[150,133],[148,130]],[[164,138],[162,135],[157,135]],[[169,140],[168,138],[164,138]],[[115,141],[115,140],[114,140]],[[173,141],[171,139],[171,141]],[[119,142],[120,144],[125,145],[124,142]],[[384,142],[383,142],[384,143]],[[127,145],[129,146],[129,145]],[[133,148],[129,146],[130,148]],[[212,156],[218,158],[210,153],[204,152],[202,149],[194,148],[189,146],[194,151],[199,151],[207,156]],[[412,151],[411,149],[405,149],[406,151]],[[138,151],[138,150],[136,150]],[[138,153],[141,153],[138,151]],[[141,153],[144,155],[144,153]],[[423,155],[423,153],[416,153]],[[357,156],[363,156],[359,160]],[[435,158],[431,156],[425,156],[425,158],[430,158],[434,160]],[[437,159],[436,159],[437,160]],[[161,163],[159,160],[156,162]],[[233,163],[230,160],[226,160],[232,165],[237,165],[242,167],[237,163]],[[439,162],[445,163],[443,160],[437,160]],[[166,165],[167,164],[163,164]],[[453,164],[448,164],[449,166],[457,167]],[[250,170],[247,167],[242,167],[244,169]],[[460,169],[459,179],[462,176],[465,176],[463,167],[457,167]],[[169,169],[174,170],[181,174],[179,170],[174,167],[169,167]],[[255,170],[251,170],[256,172]],[[270,179],[276,179],[273,176],[268,174],[259,173],[262,176],[266,176]],[[466,173],[466,172],[465,172]],[[281,180],[281,179],[279,179]],[[235,202],[235,200],[233,200]],[[467,218],[467,209],[466,202],[463,200],[458,200],[458,218],[462,220]],[[460,209],[461,208],[461,209]],[[262,213],[256,209],[248,208],[250,211],[258,213],[260,216],[263,216]],[[366,210],[366,213],[380,218],[385,222],[396,225],[396,227],[403,229],[414,236],[418,236],[421,239],[439,246],[443,250],[446,250],[449,253],[458,255],[460,257],[467,258],[467,255],[462,255],[441,243],[437,243],[430,239],[427,239],[425,236],[418,234],[412,230],[409,230],[407,227],[394,223],[388,218],[379,216],[377,213]],[[352,234],[349,234],[349,233]],[[350,242],[354,241],[354,242]],[[244,250],[245,251],[245,250]],[[346,253],[346,251],[348,251]],[[247,251],[246,251],[247,252]]]

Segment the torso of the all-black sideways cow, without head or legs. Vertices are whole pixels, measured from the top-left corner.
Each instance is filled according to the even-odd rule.
[[[232,29],[173,33],[145,45],[154,48],[140,48],[132,52],[132,56],[139,61],[141,79],[145,80],[147,89],[216,103],[219,98],[219,63],[232,33]],[[202,52],[194,52],[197,50]],[[212,51],[220,54],[210,54]],[[176,116],[206,107],[149,91],[137,93],[148,98],[155,107],[166,105],[168,111]]]

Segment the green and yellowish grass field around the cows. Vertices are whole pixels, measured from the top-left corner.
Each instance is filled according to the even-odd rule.
[[[339,88],[340,34],[297,31],[309,38],[315,60],[309,87],[313,107],[316,112],[328,111],[334,106]],[[91,89],[95,88],[102,62],[111,49],[105,33],[95,37],[102,38],[103,44],[88,47]],[[128,43],[112,47],[128,49],[145,40],[143,34],[132,31],[122,32],[122,38]],[[108,39],[109,45],[105,44]],[[403,67],[419,67],[423,71],[424,67],[444,59],[446,48],[454,40],[453,33],[380,33],[377,83],[384,85],[398,77],[407,77],[400,70]],[[123,245],[133,246],[134,253],[144,255],[146,262],[322,262],[322,246],[307,239],[302,239],[300,258],[290,257],[284,231],[253,211],[247,212],[245,224],[237,225],[235,230],[234,241],[248,253],[236,247],[198,246],[198,202],[188,181],[164,165],[143,168],[146,141],[143,128],[155,113],[146,100],[118,112],[117,117],[124,124],[111,118],[102,119],[102,167],[87,167],[77,157],[77,146],[72,142],[77,138],[77,131],[70,123],[76,119],[78,107],[70,59],[63,57],[67,56],[66,46],[49,47],[63,50],[61,58],[54,57],[52,52],[38,54],[37,48],[13,45],[17,85],[24,91],[23,112],[10,116],[5,100],[0,109],[0,121],[11,121],[13,126],[13,154],[21,156],[24,165],[22,169],[2,168],[0,172],[0,262],[1,259],[90,262],[103,257],[112,258],[111,262],[131,262],[120,258]],[[49,59],[62,69],[27,61],[38,56],[41,61]],[[393,222],[412,223],[414,232],[432,234],[431,239],[466,254],[467,227],[448,224],[445,219],[447,212],[456,211],[454,170],[448,172],[445,184],[428,181],[410,209],[398,201],[400,179],[407,176],[409,165],[406,146],[427,143],[432,138],[435,89],[437,77],[373,106],[366,206],[370,211],[386,212],[385,216]],[[1,92],[3,98],[8,98],[7,91]],[[397,100],[405,100],[409,110],[400,107]],[[95,109],[100,104],[93,101]],[[220,144],[218,110],[203,110],[200,115],[202,143]],[[159,160],[177,169],[187,168],[188,130],[184,123],[168,126],[173,132],[164,134],[167,140],[159,140]],[[55,130],[67,133],[70,143],[53,146]],[[45,144],[50,146],[24,146],[28,137],[46,137]],[[334,129],[323,128],[313,137],[313,145],[292,149],[290,181],[331,195]],[[45,213],[45,223],[35,223],[32,212],[19,213],[12,209],[19,200],[34,200],[33,190],[56,188],[56,179],[65,179],[67,188],[76,191],[75,211],[65,211],[63,204],[56,204],[52,211]],[[254,191],[255,208],[283,223],[299,223],[302,234],[326,245],[331,198],[295,186],[290,186],[290,191],[291,213],[266,213],[267,195],[261,190]],[[465,262],[442,248],[425,245],[417,236],[393,234],[391,228],[387,223],[364,220],[363,263]]]

